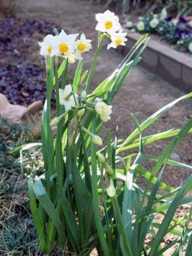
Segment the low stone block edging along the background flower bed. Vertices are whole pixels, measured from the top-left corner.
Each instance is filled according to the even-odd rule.
[[[119,48],[119,51],[126,55],[141,37],[139,33],[127,33],[127,45]],[[143,51],[141,66],[161,76],[173,86],[179,87],[186,92],[192,91],[192,58],[184,53],[175,51],[161,42],[150,39],[146,49]]]

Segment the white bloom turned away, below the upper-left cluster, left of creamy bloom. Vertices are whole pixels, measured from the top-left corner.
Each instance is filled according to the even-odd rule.
[[[68,84],[67,86],[65,86],[65,89],[59,89],[59,102],[60,105],[64,105],[65,106],[65,111],[68,111],[69,109],[71,109],[71,107],[75,107],[75,100],[74,98],[77,100],[77,96],[76,94],[71,95],[72,93],[72,86],[71,84]]]

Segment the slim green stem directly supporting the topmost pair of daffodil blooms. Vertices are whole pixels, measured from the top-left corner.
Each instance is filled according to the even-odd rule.
[[[89,87],[90,87],[90,84],[91,84],[91,79],[92,79],[92,75],[94,73],[94,69],[95,69],[95,66],[96,66],[96,62],[98,60],[98,57],[100,55],[100,51],[101,51],[101,48],[102,48],[102,45],[103,45],[103,40],[105,39],[105,35],[102,34],[99,36],[99,41],[98,41],[98,48],[96,50],[96,53],[94,55],[94,58],[92,60],[92,64],[91,64],[91,69],[89,71],[89,75],[87,77],[87,81],[85,83],[85,91],[87,92],[89,90]]]

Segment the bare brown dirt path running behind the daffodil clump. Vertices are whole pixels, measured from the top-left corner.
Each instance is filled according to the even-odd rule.
[[[95,4],[91,5],[91,1],[28,0],[22,1],[19,16],[23,18],[31,17],[33,19],[44,19],[51,23],[58,24],[58,27],[63,28],[68,33],[85,33],[86,37],[92,40],[93,45],[93,49],[83,55],[85,59],[85,68],[89,68],[97,44],[97,32],[94,30],[96,26],[95,14],[98,12],[104,12],[104,10],[104,6]],[[42,62],[43,65],[43,58],[38,54],[39,47],[37,42],[33,43],[34,45],[31,46],[33,51],[31,52],[31,55],[29,55],[29,58],[31,58],[32,62]],[[98,66],[92,79],[90,91],[98,86],[104,78],[108,77],[114,69],[118,67],[122,58],[123,56],[117,51],[107,50],[106,42],[98,59]],[[70,72],[73,74],[73,68],[71,68]],[[118,123],[118,118],[120,116],[119,138],[127,138],[128,134],[135,129],[134,122],[130,117],[131,113],[134,113],[141,123],[143,120],[148,118],[148,116],[155,113],[155,111],[182,95],[184,95],[184,93],[174,87],[174,84],[169,84],[141,66],[136,66],[112,102],[112,118],[110,122],[103,125],[101,136],[103,136],[103,138],[105,137],[105,131],[107,128],[112,131],[112,135],[114,136],[116,124]],[[189,118],[192,117],[191,109],[191,99],[180,102],[173,106],[168,113],[164,114],[164,116],[162,116],[162,118],[155,122],[150,128],[146,129],[146,131],[144,131],[144,135],[161,133],[169,129],[180,129],[180,127],[182,127]],[[144,152],[145,154],[159,156],[162,150],[165,149],[166,145],[168,145],[169,141],[170,140],[164,140],[163,142],[145,146]],[[175,149],[172,158],[186,164],[191,164],[191,142],[192,136],[190,134]],[[129,152],[124,152],[124,155],[126,155],[126,153],[128,154]],[[148,170],[151,170],[153,165],[152,163],[146,162],[146,167]],[[189,174],[189,170],[167,167],[164,172],[163,181],[173,187],[178,187],[179,185],[182,185]],[[138,183],[143,186],[143,179],[138,179]],[[186,208],[180,208],[176,214],[177,217],[183,216],[186,214],[186,211]],[[159,216],[159,221],[161,220],[162,217]],[[174,237],[170,235],[164,242],[167,243],[173,239]],[[97,254],[95,252],[92,255]],[[166,255],[171,255],[171,251]]]

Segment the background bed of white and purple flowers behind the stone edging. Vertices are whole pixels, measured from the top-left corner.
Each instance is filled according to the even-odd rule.
[[[184,17],[173,18],[166,9],[160,14],[150,14],[139,17],[137,24],[127,21],[127,27],[132,32],[160,35],[161,40],[173,45],[175,50],[192,53],[192,21]]]

